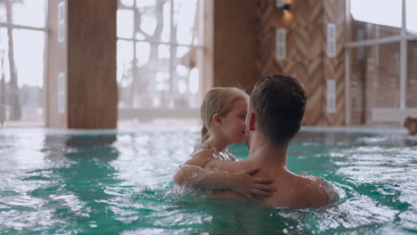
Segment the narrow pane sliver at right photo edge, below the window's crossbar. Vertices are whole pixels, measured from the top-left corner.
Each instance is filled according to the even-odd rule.
[[[417,40],[407,43],[407,51],[405,106],[417,108]]]

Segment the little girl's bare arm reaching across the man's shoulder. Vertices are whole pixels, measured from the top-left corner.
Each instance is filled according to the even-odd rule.
[[[213,159],[211,150],[200,150],[179,166],[174,174],[174,181],[179,185],[186,185],[196,189],[233,190],[247,199],[254,196],[271,196],[274,189],[267,184],[272,182],[266,178],[253,176],[258,167],[252,167],[238,173],[213,171],[204,166]]]

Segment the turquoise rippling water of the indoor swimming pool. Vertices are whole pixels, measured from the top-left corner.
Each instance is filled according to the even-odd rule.
[[[0,130],[2,234],[412,234],[417,137],[306,129],[288,165],[331,181],[329,207],[266,208],[178,195],[172,174],[199,128]],[[243,145],[230,149],[240,157]]]

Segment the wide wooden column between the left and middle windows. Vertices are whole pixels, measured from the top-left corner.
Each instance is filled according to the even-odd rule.
[[[65,38],[58,41],[58,5],[64,4]],[[117,0],[49,1],[47,117],[50,127],[116,128]],[[58,77],[65,77],[65,109]]]

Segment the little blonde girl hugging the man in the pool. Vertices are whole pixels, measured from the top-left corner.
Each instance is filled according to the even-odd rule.
[[[274,191],[266,185],[271,180],[253,176],[258,167],[235,174],[204,168],[214,159],[240,160],[227,150],[227,146],[245,141],[248,102],[249,95],[238,88],[216,87],[208,91],[200,108],[203,122],[201,143],[191,158],[177,168],[174,175],[177,184],[195,189],[233,190],[247,199],[255,199],[257,195],[267,197]]]

